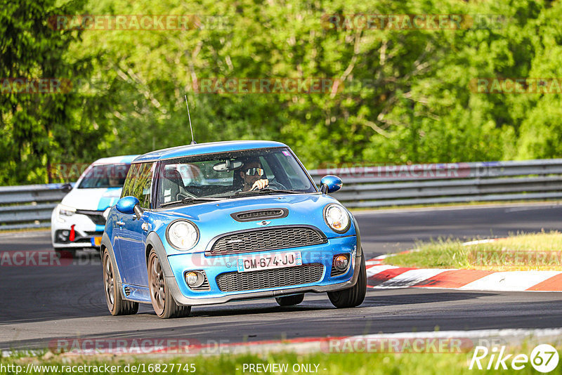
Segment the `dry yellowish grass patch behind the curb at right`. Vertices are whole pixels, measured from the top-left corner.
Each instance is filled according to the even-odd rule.
[[[510,235],[495,242],[464,245],[455,239],[419,244],[386,263],[415,268],[475,270],[562,270],[562,233]]]

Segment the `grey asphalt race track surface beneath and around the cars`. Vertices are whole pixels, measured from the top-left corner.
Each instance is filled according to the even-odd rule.
[[[561,230],[562,205],[511,204],[445,209],[358,211],[367,256],[411,249],[438,237],[502,237]],[[48,232],[0,235],[0,251],[50,251]],[[67,265],[0,267],[0,349],[45,348],[62,338],[181,338],[236,343],[279,338],[395,332],[562,327],[561,293],[433,289],[367,291],[359,308],[333,308],[325,294],[281,308],[273,299],[192,309],[188,318],[159,320],[150,305],[112,317],[93,251]]]

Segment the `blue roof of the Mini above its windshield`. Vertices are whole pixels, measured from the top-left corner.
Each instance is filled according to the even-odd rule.
[[[157,160],[173,159],[175,157],[268,147],[287,147],[287,145],[273,140],[228,140],[224,142],[197,143],[196,145],[171,147],[148,152],[137,157],[134,162],[156,162]]]

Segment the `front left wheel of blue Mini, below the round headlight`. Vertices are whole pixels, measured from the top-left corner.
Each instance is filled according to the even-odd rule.
[[[178,305],[169,293],[168,282],[156,251],[152,249],[148,256],[148,287],[152,308],[158,317],[169,319],[171,317],[187,317],[191,313],[191,306]]]

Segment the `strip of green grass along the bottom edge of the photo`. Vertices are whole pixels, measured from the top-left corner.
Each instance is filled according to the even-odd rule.
[[[558,350],[559,351],[559,350]],[[109,358],[85,358],[81,357],[70,362],[67,358],[58,358],[55,356],[52,360],[40,361],[43,367],[41,371],[34,367],[36,371],[25,372],[27,364],[38,362],[37,359],[20,358],[18,360],[10,360],[9,358],[0,359],[1,374],[15,374],[15,371],[3,371],[8,364],[17,364],[22,366],[22,371],[26,374],[99,374],[99,371],[91,369],[83,369],[83,371],[73,371],[68,366],[89,365],[89,366],[119,366],[119,371],[111,371],[114,374],[164,374],[174,372],[175,374],[249,374],[249,373],[265,373],[265,374],[303,374],[315,373],[326,375],[361,375],[361,374],[497,374],[498,370],[478,370],[469,369],[471,353],[270,353],[268,355],[218,355],[216,357],[175,357],[174,359],[139,359],[120,357]],[[65,361],[66,360],[66,361]],[[507,361],[509,366],[510,361]],[[125,366],[129,364],[127,369]],[[156,364],[160,364],[157,368]],[[164,364],[167,369],[164,371]],[[174,364],[174,371],[170,371],[171,365]],[[188,367],[185,367],[188,364]],[[193,364],[193,366],[190,366]],[[246,367],[244,367],[244,364]],[[268,364],[287,365],[286,371],[250,371],[249,364]],[[484,367],[486,363],[484,364]],[[181,365],[181,366],[180,366]],[[318,365],[318,366],[317,366]],[[48,367],[52,366],[52,367]],[[140,371],[132,371],[132,366],[140,366]],[[150,367],[149,367],[150,366]],[[297,368],[298,367],[298,368]],[[178,371],[178,368],[181,368]],[[76,368],[77,369],[77,368]],[[159,371],[157,370],[159,369]],[[188,369],[189,371],[185,371]],[[192,371],[195,369],[195,371]],[[245,369],[245,371],[244,371]],[[307,370],[308,369],[308,370]],[[69,371],[70,370],[70,371]],[[77,369],[78,370],[78,369]],[[127,371],[128,370],[128,371]],[[149,371],[151,370],[151,371]],[[295,371],[299,370],[299,371]],[[507,374],[537,374],[531,364],[526,364],[525,368],[515,371],[508,367],[508,370],[500,370]],[[549,374],[562,374],[562,365],[551,371]]]

